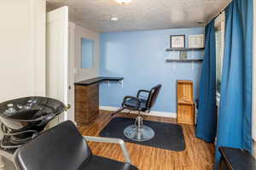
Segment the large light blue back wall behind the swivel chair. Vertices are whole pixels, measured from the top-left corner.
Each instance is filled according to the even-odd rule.
[[[195,99],[201,76],[201,63],[166,63],[178,52],[166,52],[170,47],[170,35],[203,34],[204,28],[109,32],[100,35],[100,75],[125,77],[124,87],[119,83],[102,83],[100,104],[119,107],[125,95],[136,95],[138,89],[150,89],[163,85],[160,97],[153,111],[177,112],[177,80],[194,82]],[[188,37],[186,37],[188,47]],[[189,58],[192,58],[189,52]],[[202,52],[193,52],[201,58]]]

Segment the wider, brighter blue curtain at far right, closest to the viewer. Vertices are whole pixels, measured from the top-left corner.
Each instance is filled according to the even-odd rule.
[[[218,114],[219,146],[252,150],[253,0],[225,9],[225,48]],[[216,166],[218,168],[218,166]]]

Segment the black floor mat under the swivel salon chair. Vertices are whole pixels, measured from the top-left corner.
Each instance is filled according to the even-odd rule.
[[[147,142],[137,142],[127,139],[124,134],[124,129],[134,124],[134,121],[135,120],[131,118],[115,117],[102,129],[100,136],[119,138],[125,140],[125,142],[148,145],[164,150],[185,150],[186,146],[182,127],[171,123],[143,121],[144,125],[148,125],[148,127],[154,129],[154,138]]]

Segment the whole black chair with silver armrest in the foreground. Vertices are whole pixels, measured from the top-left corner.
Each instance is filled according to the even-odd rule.
[[[86,141],[120,144],[125,163],[93,156]],[[121,139],[83,137],[73,122],[62,122],[15,152],[18,170],[137,170]]]

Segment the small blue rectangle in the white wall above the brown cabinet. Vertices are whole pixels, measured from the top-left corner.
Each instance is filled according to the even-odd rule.
[[[94,42],[90,39],[82,38],[81,43],[81,68],[92,68],[94,57]]]

